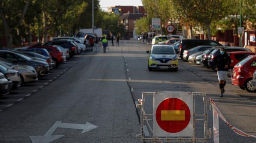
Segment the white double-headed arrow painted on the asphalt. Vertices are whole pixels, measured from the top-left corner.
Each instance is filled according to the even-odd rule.
[[[62,121],[56,121],[53,126],[43,135],[43,136],[29,136],[32,143],[50,143],[54,140],[57,140],[65,135],[53,135],[53,132],[57,129],[57,127],[61,128],[69,128],[69,129],[82,129],[82,133],[95,129],[97,126],[86,122],[86,124],[71,124],[71,123],[62,123]]]

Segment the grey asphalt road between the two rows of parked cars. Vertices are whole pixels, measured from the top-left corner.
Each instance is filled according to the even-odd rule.
[[[181,60],[178,72],[149,72],[146,51],[150,48],[124,40],[107,53],[100,49],[75,56],[62,65],[68,68],[65,72],[59,74],[57,69],[58,76],[53,71],[46,78],[53,81],[35,86],[37,91],[32,89],[18,103],[6,104],[10,106],[0,112],[0,143],[140,143],[136,138],[140,110],[135,104],[142,92],[154,91],[204,92],[230,124],[256,135],[255,93],[242,91],[229,79],[224,97],[219,98],[217,74]],[[24,92],[27,95],[27,89]],[[6,95],[0,102],[20,99],[14,97]],[[147,101],[152,108],[152,99]],[[202,112],[203,103],[195,104],[196,112]],[[220,142],[256,142],[236,135],[221,119],[219,125]],[[199,134],[203,129],[198,127]],[[212,111],[208,111],[208,127],[212,128]]]

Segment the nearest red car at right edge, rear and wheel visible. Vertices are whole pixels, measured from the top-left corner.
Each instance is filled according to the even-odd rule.
[[[233,68],[231,81],[233,85],[254,92],[256,89],[252,86],[252,76],[256,70],[256,55],[248,56],[240,61]]]

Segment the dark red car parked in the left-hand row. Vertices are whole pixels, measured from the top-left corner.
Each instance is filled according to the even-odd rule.
[[[63,53],[61,52],[61,49],[59,49],[59,47],[40,45],[40,46],[31,46],[31,47],[28,47],[27,49],[33,49],[33,48],[46,49],[50,53],[52,60],[56,62],[57,66],[66,60],[63,56]]]

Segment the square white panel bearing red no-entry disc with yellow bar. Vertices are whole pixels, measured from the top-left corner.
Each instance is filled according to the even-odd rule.
[[[193,101],[191,92],[153,94],[153,136],[193,136]]]

